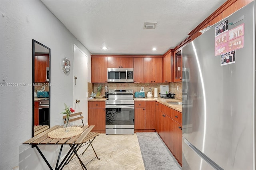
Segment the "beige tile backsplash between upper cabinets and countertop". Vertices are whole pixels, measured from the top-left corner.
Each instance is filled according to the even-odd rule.
[[[160,85],[169,85],[169,92],[175,94],[175,99],[182,100],[182,82],[179,83],[88,83],[92,85],[92,88],[88,88],[88,93],[97,93],[97,87],[102,86],[101,95],[105,95],[104,87],[107,86],[110,89],[133,89],[134,93],[140,91],[141,87],[144,87],[145,95],[152,89],[154,95],[154,88],[158,89],[158,97],[160,97]],[[178,86],[178,90],[177,90]],[[91,86],[90,86],[91,87]]]

